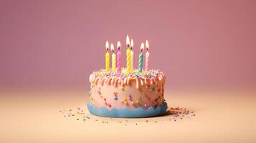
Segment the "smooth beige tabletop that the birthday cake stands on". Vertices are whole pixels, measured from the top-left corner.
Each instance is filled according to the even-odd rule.
[[[0,92],[0,142],[256,142],[256,91],[166,93],[169,107],[189,114],[96,117],[83,90]]]

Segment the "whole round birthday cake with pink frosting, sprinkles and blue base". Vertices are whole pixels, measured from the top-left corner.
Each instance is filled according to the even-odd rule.
[[[112,69],[108,69],[108,65],[106,67],[93,71],[89,77],[90,102],[87,107],[91,114],[102,117],[153,117],[166,113],[166,77],[162,71],[146,70],[140,66],[131,69],[129,65],[126,68],[118,65],[117,69],[115,66]]]

